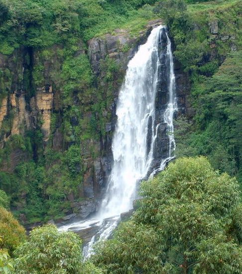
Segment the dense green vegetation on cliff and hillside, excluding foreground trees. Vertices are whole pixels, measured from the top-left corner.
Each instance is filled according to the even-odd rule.
[[[192,121],[179,117],[176,122],[176,154],[206,155],[215,168],[236,175],[241,181],[241,1],[188,3],[0,1],[0,52],[11,56],[14,50],[23,47],[28,50],[24,57],[25,74],[18,83],[20,91],[25,92],[26,102],[30,102],[38,87],[45,85],[44,66],[50,59],[54,60],[51,78],[55,89],[60,91],[59,110],[51,113],[47,145],[43,143],[43,121],[39,117],[36,129],[11,135],[0,150],[0,164],[9,163],[11,152],[16,149],[24,151],[29,159],[20,162],[14,172],[0,171],[0,187],[10,196],[11,208],[16,216],[22,216],[22,222],[56,220],[75,213],[73,199],[83,199],[85,147],[90,146],[93,159],[100,154],[95,142],[105,136],[105,123],[111,119],[110,113],[104,117],[103,112],[112,105],[112,90],[121,83],[123,72],[116,62],[107,59],[102,64],[105,77],[96,79],[88,54],[77,55],[80,47],[87,53],[88,39],[112,33],[117,27],[127,29],[135,37],[154,18],[163,17],[170,28],[176,45],[174,56],[189,75],[190,101],[197,110]],[[219,35],[225,40],[210,33],[209,23],[216,21]],[[230,53],[232,44],[237,50]],[[33,52],[35,63],[31,64]],[[17,62],[18,54],[14,58]],[[231,70],[229,60],[233,62]],[[11,91],[15,77],[8,68],[1,69],[1,100]],[[87,113],[91,115],[85,116]],[[14,111],[10,110],[3,120],[1,139],[9,134],[13,116]],[[58,128],[63,144],[54,149],[53,136]],[[90,139],[92,145],[88,143]]]

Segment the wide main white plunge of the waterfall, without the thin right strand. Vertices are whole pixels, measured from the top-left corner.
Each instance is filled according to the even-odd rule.
[[[120,215],[132,207],[136,182],[148,172],[153,159],[147,154],[148,121],[155,119],[155,95],[159,68],[158,42],[162,26],[152,30],[147,42],[130,60],[117,105],[113,137],[114,165],[100,215]],[[153,138],[152,138],[153,139]]]

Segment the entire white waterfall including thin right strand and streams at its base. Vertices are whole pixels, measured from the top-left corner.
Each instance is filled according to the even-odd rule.
[[[161,35],[166,44],[162,45]],[[164,62],[160,59],[162,54]],[[161,66],[167,67],[167,102],[162,115],[163,121],[156,122],[155,100]],[[92,254],[92,247],[99,239],[108,239],[117,227],[121,213],[132,209],[136,197],[137,183],[147,175],[152,177],[162,170],[173,157],[175,140],[173,135],[173,114],[176,110],[175,76],[171,41],[165,26],[154,28],[147,42],[141,46],[129,61],[117,104],[117,125],[113,137],[114,163],[108,180],[108,187],[100,209],[94,217],[72,223],[60,230],[80,231],[97,227],[97,233],[84,247],[84,258]],[[159,165],[153,167],[153,151],[161,124],[166,126],[168,152],[160,155]],[[149,136],[148,136],[149,134]]]

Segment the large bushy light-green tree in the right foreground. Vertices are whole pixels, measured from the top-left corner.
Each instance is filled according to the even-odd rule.
[[[213,170],[205,157],[180,158],[143,182],[141,195],[131,220],[97,250],[95,264],[108,273],[242,273],[235,178]]]

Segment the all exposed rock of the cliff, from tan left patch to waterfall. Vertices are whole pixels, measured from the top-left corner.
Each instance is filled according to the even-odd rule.
[[[155,26],[161,24],[159,20],[151,21],[139,33],[133,37],[126,30],[116,30],[114,34],[93,38],[88,41],[88,50],[82,41],[79,43],[77,55],[89,55],[93,73],[95,75],[96,89],[105,94],[105,107],[102,110],[102,120],[105,122],[104,131],[98,139],[82,140],[81,156],[83,159],[83,183],[80,190],[82,202],[76,202],[69,195],[71,201],[69,216],[59,222],[70,221],[75,218],[86,218],[96,210],[97,201],[102,196],[105,183],[112,167],[112,135],[116,125],[116,102],[121,87],[128,61],[133,57],[140,44],[144,43]],[[6,142],[15,135],[24,136],[27,131],[42,133],[42,153],[45,153],[47,144],[56,151],[64,151],[71,141],[64,140],[61,125],[63,123],[63,104],[61,103],[62,83],[60,71],[63,60],[55,52],[61,50],[61,46],[50,49],[50,56],[43,58],[43,53],[33,52],[30,48],[20,48],[13,55],[7,57],[0,55],[0,69],[3,71],[3,85],[0,84],[0,146],[3,148]],[[107,64],[111,64],[107,68]],[[106,66],[106,67],[105,67]],[[38,72],[41,71],[41,75]],[[111,73],[111,76],[110,74]],[[175,60],[176,95],[178,102],[178,113],[184,113],[188,117],[193,115],[187,97],[189,95],[188,76],[182,72],[179,63]],[[108,79],[108,80],[107,80]],[[111,80],[110,80],[111,79]],[[162,82],[163,81],[163,82]],[[162,112],[166,104],[163,85],[165,78],[160,82],[157,95],[157,112]],[[85,93],[85,92],[84,92]],[[74,100],[77,106],[88,106],[92,104],[93,98],[87,95],[78,95]],[[58,117],[54,128],[52,123],[53,114]],[[90,119],[93,113],[84,113],[83,120]],[[4,123],[7,122],[7,127]],[[73,115],[70,119],[72,126],[78,125],[77,118]],[[162,128],[162,127],[161,127]],[[164,129],[163,129],[164,130]],[[162,129],[161,129],[162,131]],[[51,138],[50,138],[51,137]],[[162,133],[160,141],[157,142],[157,153],[159,157],[160,147],[163,146]],[[159,149],[158,149],[159,148]],[[34,147],[32,155],[19,147],[12,149],[10,161],[3,161],[0,169],[12,172],[16,165],[26,159],[38,156],[38,148]],[[98,151],[97,155],[93,153]]]

